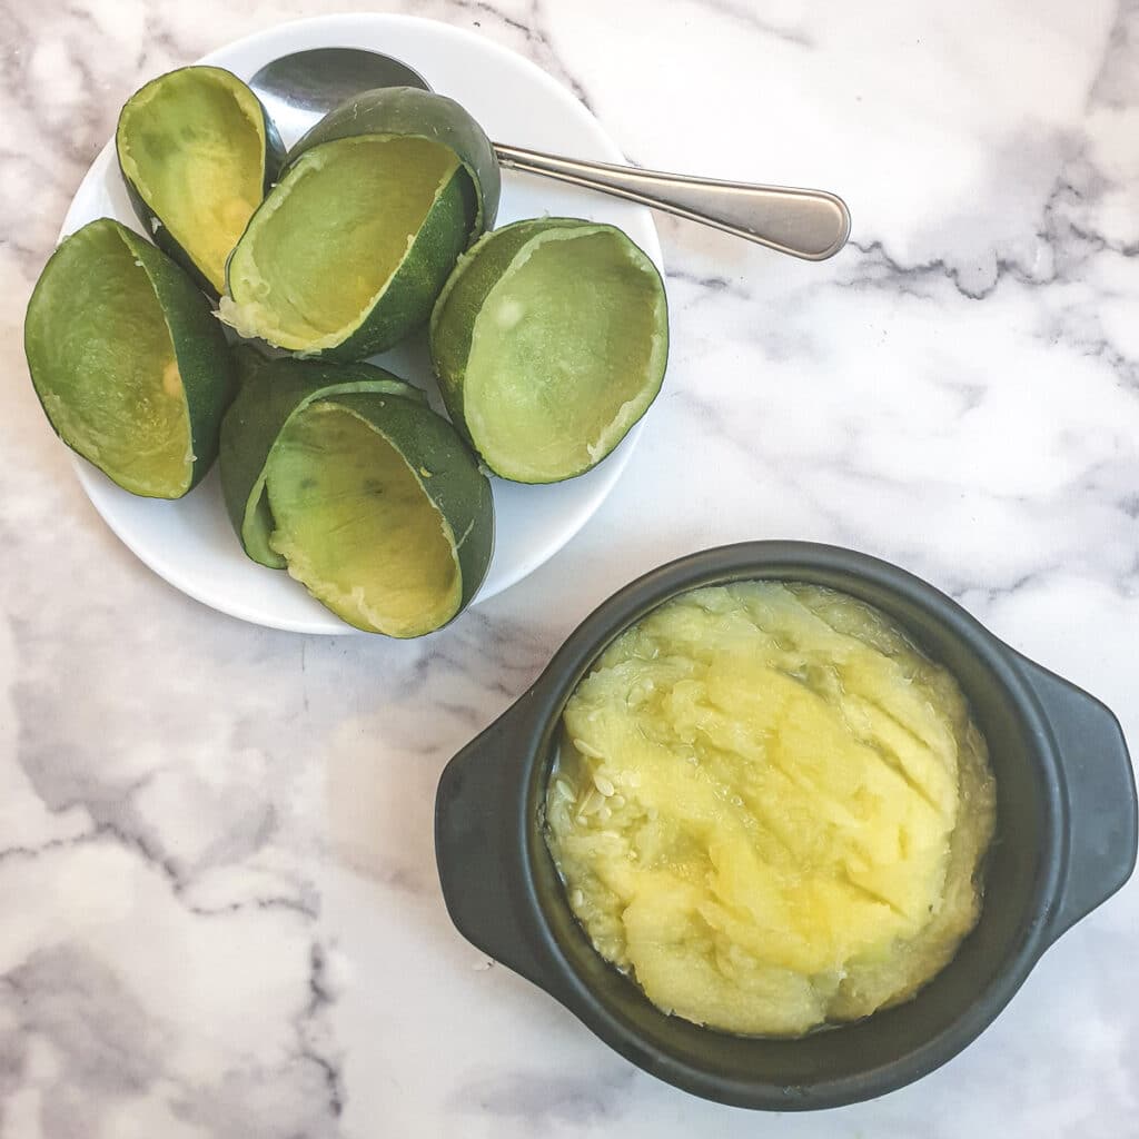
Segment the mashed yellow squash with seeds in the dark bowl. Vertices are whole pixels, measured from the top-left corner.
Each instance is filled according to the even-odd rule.
[[[911,997],[977,920],[985,741],[953,678],[817,587],[695,590],[577,686],[547,842],[656,1006],[794,1035]]]

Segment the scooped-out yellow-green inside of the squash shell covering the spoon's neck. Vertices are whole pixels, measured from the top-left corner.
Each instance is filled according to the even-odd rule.
[[[458,164],[452,150],[413,137],[337,139],[303,154],[233,255],[223,319],[286,349],[341,343]]]

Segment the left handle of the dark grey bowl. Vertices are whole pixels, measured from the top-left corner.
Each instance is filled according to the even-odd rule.
[[[456,928],[484,953],[543,989],[544,970],[521,919],[522,842],[515,819],[526,748],[524,700],[443,770],[435,795],[435,860]]]

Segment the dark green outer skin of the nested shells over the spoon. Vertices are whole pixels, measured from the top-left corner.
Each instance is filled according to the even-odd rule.
[[[293,147],[282,177],[316,147],[362,136],[410,136],[441,142],[454,151],[460,166],[442,189],[411,248],[371,310],[339,344],[312,353],[313,359],[362,360],[402,341],[428,318],[459,254],[494,223],[498,213],[501,180],[486,134],[459,104],[417,88],[366,91],[342,104]],[[462,213],[469,219],[465,235],[453,232],[448,224],[449,211],[441,208],[444,199],[461,202]],[[254,214],[243,241],[256,223]],[[232,262],[231,257],[227,269],[228,290],[240,304],[241,288],[233,280]]]

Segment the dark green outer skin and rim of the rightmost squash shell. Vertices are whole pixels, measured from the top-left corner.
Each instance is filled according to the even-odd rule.
[[[459,259],[454,271],[451,273],[446,285],[443,287],[443,292],[435,302],[429,326],[432,367],[439,380],[448,415],[450,415],[451,420],[464,439],[476,451],[478,451],[478,445],[467,425],[465,399],[467,361],[470,357],[475,321],[486,303],[491,290],[498,285],[502,276],[510,270],[515,259],[532,238],[549,230],[582,228],[595,231],[609,230],[620,235],[625,241],[629,241],[629,245],[632,245],[632,241],[614,227],[598,226],[579,218],[533,218],[513,222],[493,232],[485,233]],[[663,298],[665,295],[664,281],[661,280],[659,273],[652,265],[652,262],[647,257],[644,260],[645,264],[653,268],[656,280],[659,282],[661,296]],[[621,435],[607,441],[608,445],[605,452],[597,454],[587,466],[575,470],[567,470],[555,478],[523,480],[511,475],[507,470],[497,469],[486,456],[481,456],[483,461],[500,477],[516,478],[516,481],[559,482],[563,478],[574,477],[591,469],[613,451],[633,424],[644,416],[659,393],[667,362],[666,318],[665,327],[662,331],[664,335],[664,352],[658,362],[658,371],[646,377],[647,394],[649,398],[645,402],[644,408],[640,409],[637,419],[625,425],[624,432]]]

